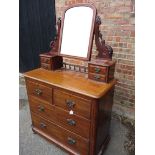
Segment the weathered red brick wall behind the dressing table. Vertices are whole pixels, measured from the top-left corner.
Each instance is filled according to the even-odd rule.
[[[61,17],[63,10],[74,3],[93,3],[102,19],[101,32],[106,43],[111,45],[117,61],[115,78],[114,111],[134,118],[135,103],[135,61],[134,61],[134,0],[56,0],[56,14]],[[92,59],[96,55],[93,47]],[[83,64],[82,61],[65,59],[71,63]]]

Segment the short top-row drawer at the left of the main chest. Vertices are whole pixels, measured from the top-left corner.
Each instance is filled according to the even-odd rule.
[[[44,86],[39,82],[27,81],[28,95],[35,96],[48,102],[52,102],[52,88]]]

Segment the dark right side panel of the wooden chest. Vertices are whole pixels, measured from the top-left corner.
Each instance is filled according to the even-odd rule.
[[[99,99],[97,115],[96,154],[102,154],[110,140],[110,122],[114,89]]]

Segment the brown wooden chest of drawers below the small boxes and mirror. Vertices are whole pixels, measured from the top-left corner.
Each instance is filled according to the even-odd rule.
[[[25,73],[25,80],[34,132],[69,154],[102,154],[110,140],[115,80],[41,68]]]

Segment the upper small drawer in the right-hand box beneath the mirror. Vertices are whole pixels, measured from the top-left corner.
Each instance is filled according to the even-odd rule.
[[[107,74],[107,67],[90,65],[89,64],[89,72],[97,73],[97,74]]]

